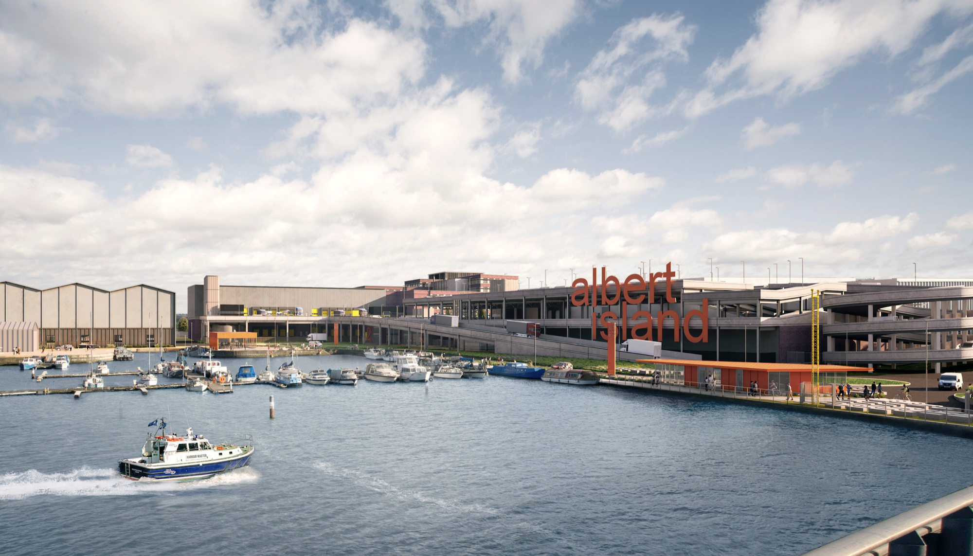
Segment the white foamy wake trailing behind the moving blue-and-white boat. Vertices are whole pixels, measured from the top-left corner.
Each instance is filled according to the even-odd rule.
[[[29,469],[0,475],[0,500],[52,496],[136,496],[177,493],[198,488],[254,482],[260,475],[251,468],[235,469],[208,479],[187,482],[132,481],[117,469],[74,469],[66,473],[42,473]]]

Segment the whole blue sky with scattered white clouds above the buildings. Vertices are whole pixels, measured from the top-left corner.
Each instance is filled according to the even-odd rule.
[[[971,278],[971,74],[973,0],[8,0],[0,279]]]

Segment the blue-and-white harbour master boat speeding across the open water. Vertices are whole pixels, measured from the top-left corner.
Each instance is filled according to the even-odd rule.
[[[249,435],[239,444],[213,444],[201,434],[187,429],[184,436],[165,433],[165,421],[149,423],[156,427],[142,446],[142,456],[119,461],[122,476],[132,480],[203,479],[230,469],[247,466],[253,455]]]

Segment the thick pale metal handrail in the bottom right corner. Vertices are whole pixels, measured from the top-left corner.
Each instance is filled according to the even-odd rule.
[[[882,549],[892,540],[905,537],[914,531],[919,535],[938,531],[939,524],[935,522],[971,504],[973,504],[973,486],[968,486],[943,498],[893,515],[847,537],[828,542],[810,552],[805,552],[802,556],[861,556]],[[919,532],[923,528],[927,530]]]

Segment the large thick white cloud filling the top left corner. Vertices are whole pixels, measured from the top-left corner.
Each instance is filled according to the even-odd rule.
[[[12,2],[0,18],[0,101],[12,105],[67,101],[136,117],[216,103],[331,113],[380,102],[425,68],[417,38],[355,18],[336,29],[301,0],[31,6]]]

